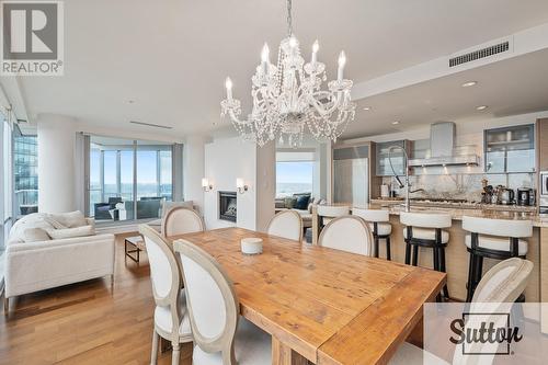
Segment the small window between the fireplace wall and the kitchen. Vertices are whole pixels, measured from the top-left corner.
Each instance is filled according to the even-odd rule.
[[[312,193],[313,157],[302,151],[276,153],[276,197]]]

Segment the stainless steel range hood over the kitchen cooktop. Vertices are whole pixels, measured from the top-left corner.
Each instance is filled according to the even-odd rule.
[[[430,151],[431,157],[424,159],[410,159],[409,167],[429,166],[477,166],[477,155],[455,153],[455,123],[438,122],[430,126]]]

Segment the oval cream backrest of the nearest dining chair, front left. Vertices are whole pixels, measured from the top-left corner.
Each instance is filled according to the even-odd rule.
[[[176,240],[194,343],[204,352],[221,352],[222,364],[236,364],[233,338],[239,303],[228,275],[197,246]]]

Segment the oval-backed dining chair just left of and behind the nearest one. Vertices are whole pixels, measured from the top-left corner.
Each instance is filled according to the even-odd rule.
[[[181,270],[169,242],[158,231],[147,225],[139,225],[139,232],[145,238],[156,303],[150,363],[157,363],[158,342],[161,335],[171,342],[173,349],[171,362],[178,365],[181,343],[193,341],[185,290],[181,289]]]

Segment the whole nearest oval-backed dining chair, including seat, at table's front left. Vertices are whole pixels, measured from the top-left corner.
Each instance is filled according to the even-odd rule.
[[[239,316],[231,281],[207,252],[176,240],[186,303],[194,334],[193,365],[266,365],[272,363],[269,333]]]

